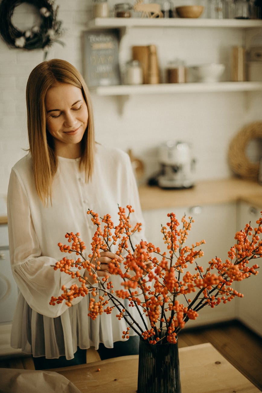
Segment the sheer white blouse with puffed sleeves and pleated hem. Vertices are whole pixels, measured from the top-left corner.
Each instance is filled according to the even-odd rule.
[[[80,232],[89,253],[96,227],[87,210],[92,209],[100,217],[109,213],[117,223],[118,205],[129,204],[135,209],[131,222],[142,222],[143,228],[131,162],[119,149],[97,145],[94,172],[88,183],[84,172],[79,171],[79,159],[59,157],[52,185],[52,205],[48,206],[42,204],[36,193],[31,154],[14,165],[7,194],[10,260],[20,290],[11,333],[14,348],[33,356],[66,355],[72,359],[77,346],[98,349],[103,342],[112,348],[115,341],[123,340],[122,331],[127,324],[115,317],[117,309],[93,321],[87,316],[89,296],[74,299],[70,308],[64,302],[51,306],[49,301],[51,296],[62,293],[62,285],[80,284],[78,279],[53,269],[56,261],[68,257],[60,252],[58,242],[67,243],[67,232]],[[143,231],[134,235],[134,244],[141,239],[144,239]],[[111,276],[111,281],[115,289],[120,288],[118,276]],[[139,320],[135,307],[132,312]]]

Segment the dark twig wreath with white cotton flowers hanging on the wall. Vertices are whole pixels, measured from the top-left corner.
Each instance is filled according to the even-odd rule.
[[[61,21],[56,20],[57,10],[53,9],[55,0],[2,0],[0,2],[0,34],[12,48],[39,49],[51,46],[56,37],[62,35]],[[38,8],[42,22],[40,26],[20,31],[11,23],[14,9],[22,3],[32,4]]]

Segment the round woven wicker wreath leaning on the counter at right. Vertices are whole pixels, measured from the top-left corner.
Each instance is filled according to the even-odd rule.
[[[246,156],[247,143],[252,139],[262,139],[262,122],[256,121],[243,127],[229,145],[229,165],[232,171],[249,180],[257,180],[259,162],[251,162]]]

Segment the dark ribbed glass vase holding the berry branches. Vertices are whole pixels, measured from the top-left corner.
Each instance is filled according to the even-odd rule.
[[[140,339],[137,393],[181,393],[177,343]]]

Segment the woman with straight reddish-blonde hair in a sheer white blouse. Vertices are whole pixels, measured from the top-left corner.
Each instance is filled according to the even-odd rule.
[[[117,222],[118,205],[130,204],[133,223],[142,222],[129,157],[95,143],[89,91],[70,63],[38,64],[29,75],[26,101],[29,153],[12,168],[7,195],[10,259],[20,290],[11,345],[32,353],[36,369],[84,363],[83,350],[91,346],[100,348],[102,358],[137,353],[137,336],[136,343],[121,338],[124,321],[106,313],[95,321],[87,316],[88,296],[74,299],[70,308],[49,305],[62,285],[79,283],[52,266],[63,257],[57,244],[67,232],[80,232],[90,251],[95,227],[88,209]],[[115,257],[101,253],[101,275]],[[118,277],[111,281],[119,285]],[[131,349],[122,349],[128,343]],[[113,346],[120,352],[112,352]]]

